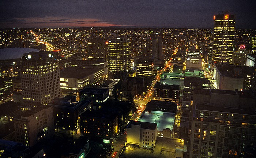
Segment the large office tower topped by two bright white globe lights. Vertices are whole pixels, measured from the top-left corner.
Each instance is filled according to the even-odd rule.
[[[54,52],[25,53],[20,77],[24,102],[47,104],[60,97],[59,63]]]

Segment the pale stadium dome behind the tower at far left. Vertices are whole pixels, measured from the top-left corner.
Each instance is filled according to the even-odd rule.
[[[39,50],[33,48],[3,48],[0,49],[0,60],[21,60],[23,54],[29,52],[39,52]]]

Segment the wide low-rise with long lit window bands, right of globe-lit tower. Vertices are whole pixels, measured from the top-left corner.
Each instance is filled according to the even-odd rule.
[[[78,68],[67,67],[60,70],[60,88],[61,90],[79,91],[92,83],[106,78],[108,68]],[[74,75],[74,73],[76,75]]]

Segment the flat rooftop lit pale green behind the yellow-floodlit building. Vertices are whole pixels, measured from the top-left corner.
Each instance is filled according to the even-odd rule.
[[[139,121],[156,123],[158,131],[163,131],[164,129],[170,129],[171,131],[173,130],[175,114],[161,111],[152,112],[150,114],[143,112],[139,118]]]

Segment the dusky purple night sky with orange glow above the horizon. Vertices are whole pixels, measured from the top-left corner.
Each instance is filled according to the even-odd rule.
[[[213,28],[225,10],[236,28],[256,28],[256,0],[0,0],[0,28]]]

